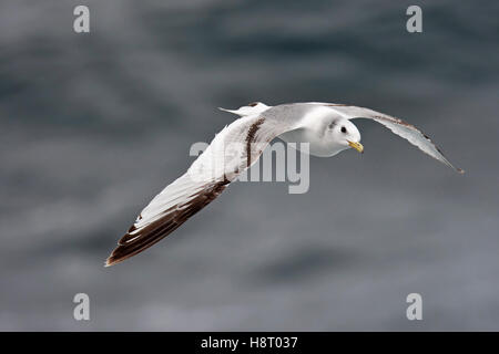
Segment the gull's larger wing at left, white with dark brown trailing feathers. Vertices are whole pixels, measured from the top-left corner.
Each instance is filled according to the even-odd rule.
[[[142,210],[105,266],[135,256],[172,233],[253,165],[274,137],[292,128],[288,123],[263,115],[245,116],[226,126],[187,173],[164,188]]]

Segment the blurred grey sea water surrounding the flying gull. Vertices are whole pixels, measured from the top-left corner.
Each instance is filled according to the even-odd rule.
[[[80,3],[0,3],[0,330],[499,330],[497,1],[419,1],[418,34],[405,0],[88,0],[77,34]],[[307,194],[234,184],[103,268],[253,101],[403,117],[467,174],[359,121],[365,154],[313,157]]]

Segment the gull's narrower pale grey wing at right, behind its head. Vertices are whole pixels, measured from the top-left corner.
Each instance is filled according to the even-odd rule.
[[[428,154],[432,158],[449,166],[459,174],[465,173],[462,169],[455,167],[447,159],[447,157],[444,156],[441,149],[434,142],[431,142],[431,139],[426,134],[424,134],[414,125],[404,122],[403,119],[364,107],[356,107],[340,104],[324,104],[324,105],[332,107],[333,110],[344,115],[348,119],[368,118],[378,122],[379,124],[383,124],[388,129],[390,129],[393,133],[397,134],[398,136],[401,136],[410,144],[417,146],[425,154]]]

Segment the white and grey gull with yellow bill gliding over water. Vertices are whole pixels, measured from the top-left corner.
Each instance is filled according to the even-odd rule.
[[[141,211],[106,259],[106,267],[142,252],[176,230],[218,197],[276,137],[285,142],[308,143],[309,154],[314,156],[330,157],[348,148],[363,153],[360,133],[352,119],[368,118],[456,171],[464,173],[454,167],[440,148],[414,125],[369,108],[319,102],[276,106],[255,102],[238,110],[220,110],[240,118],[216,134],[187,171]]]

